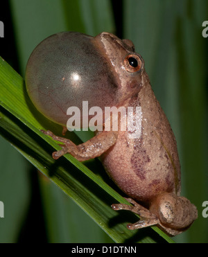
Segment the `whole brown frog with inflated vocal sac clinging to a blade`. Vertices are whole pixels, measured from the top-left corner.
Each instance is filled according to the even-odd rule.
[[[140,216],[138,222],[128,224],[128,229],[156,224],[175,236],[196,220],[196,206],[180,196],[175,136],[151,89],[144,60],[130,40],[111,33],[96,37],[73,32],[52,35],[31,54],[26,87],[35,107],[63,126],[70,106],[78,107],[83,118],[83,101],[88,101],[89,108],[97,106],[103,111],[105,107],[141,107],[138,138],[130,136],[128,129],[121,130],[121,125],[117,131],[112,126],[106,131],[103,118],[103,131],[96,131],[80,145],[50,131],[42,132],[63,143],[62,150],[53,152],[54,159],[66,153],[79,161],[101,157],[108,175],[130,197],[130,205],[113,204],[112,208]],[[133,112],[133,123],[135,117]]]

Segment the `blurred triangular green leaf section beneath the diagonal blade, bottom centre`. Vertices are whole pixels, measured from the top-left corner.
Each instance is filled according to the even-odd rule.
[[[60,188],[39,177],[49,242],[113,242]]]

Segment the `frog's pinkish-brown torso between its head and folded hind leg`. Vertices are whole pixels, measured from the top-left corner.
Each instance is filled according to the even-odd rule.
[[[114,182],[130,197],[148,202],[161,192],[180,195],[180,161],[175,136],[144,76],[136,105],[141,106],[141,136],[119,132],[116,144],[101,159]],[[135,103],[128,103],[128,106]]]

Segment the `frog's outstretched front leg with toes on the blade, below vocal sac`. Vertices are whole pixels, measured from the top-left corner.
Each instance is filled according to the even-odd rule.
[[[116,143],[116,139],[118,137],[118,132],[114,131],[103,131],[100,134],[97,134],[92,139],[89,139],[85,143],[81,143],[80,145],[76,145],[69,139],[65,139],[61,136],[55,136],[51,131],[41,130],[44,134],[51,136],[55,141],[62,142],[64,144],[60,144],[62,150],[58,150],[57,152],[53,152],[53,159],[58,159],[62,155],[70,153],[78,159],[78,161],[86,161],[88,159],[93,159],[95,157],[100,156],[109,149],[114,143]]]

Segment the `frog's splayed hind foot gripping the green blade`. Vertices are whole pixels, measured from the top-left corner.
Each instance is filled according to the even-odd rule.
[[[135,200],[132,200],[132,198],[125,198],[130,202],[132,205],[128,204],[112,204],[112,209],[114,211],[120,211],[120,210],[127,210],[132,211],[133,213],[136,213],[140,216],[140,220],[138,222],[135,222],[133,224],[128,224],[128,229],[140,229],[143,227],[149,227],[155,224],[159,223],[159,219],[155,216],[155,214],[151,213],[148,209],[144,208],[144,206],[141,206]]]

